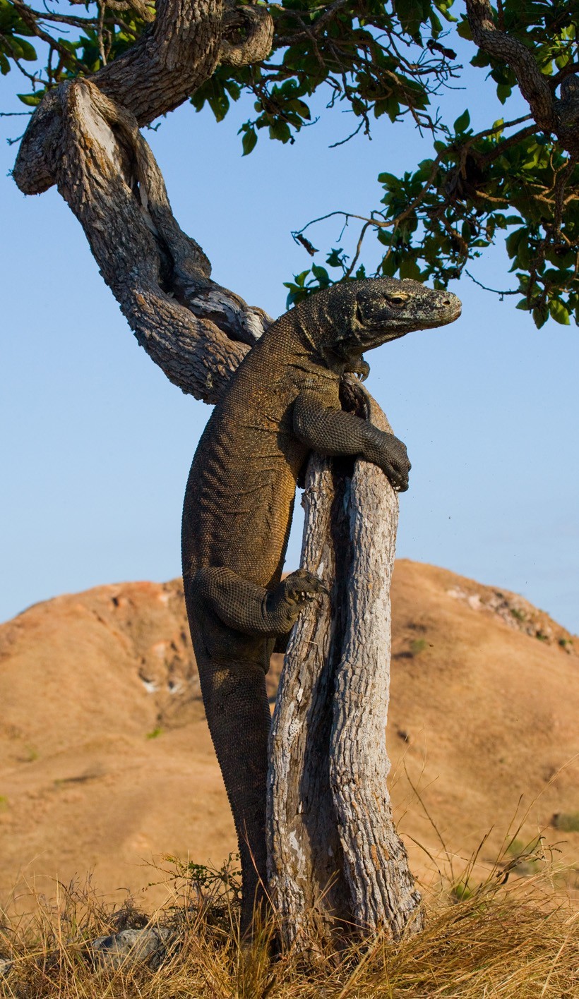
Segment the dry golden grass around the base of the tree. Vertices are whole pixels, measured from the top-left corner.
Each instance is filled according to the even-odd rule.
[[[172,896],[153,917],[139,913],[130,899],[113,911],[90,882],[82,890],[57,885],[50,902],[36,896],[28,916],[10,920],[0,913],[0,956],[14,962],[0,977],[0,994],[17,999],[578,997],[579,913],[546,890],[545,869],[532,878],[513,874],[505,884],[508,866],[516,869],[511,858],[474,884],[475,860],[460,881],[440,881],[428,893],[427,928],[420,935],[391,944],[374,934],[339,955],[318,946],[309,963],[295,951],[271,959],[271,925],[250,952],[239,946],[238,882],[230,867],[211,871],[177,864],[163,872]],[[96,937],[144,926],[172,931],[173,942],[160,961],[135,965],[127,959],[113,968],[91,956]]]

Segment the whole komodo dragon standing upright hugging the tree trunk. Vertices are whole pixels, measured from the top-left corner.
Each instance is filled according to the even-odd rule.
[[[308,454],[361,456],[408,489],[406,448],[342,411],[340,380],[362,353],[460,315],[456,296],[377,278],[320,291],[272,324],[216,406],[193,459],[183,510],[183,581],[211,736],[239,839],[242,930],[266,884],[270,710],[276,636],[324,591],[298,569],[281,579],[296,482]]]

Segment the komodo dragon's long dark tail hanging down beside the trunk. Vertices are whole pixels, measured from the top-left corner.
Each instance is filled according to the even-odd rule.
[[[263,666],[200,662],[209,730],[233,812],[242,872],[241,933],[266,902],[265,806],[271,714]]]

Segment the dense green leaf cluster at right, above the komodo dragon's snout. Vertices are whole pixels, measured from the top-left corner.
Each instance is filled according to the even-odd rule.
[[[465,112],[453,141],[437,141],[437,156],[414,172],[379,175],[384,207],[367,223],[384,248],[376,273],[446,288],[501,237],[516,278],[501,294],[517,295],[517,308],[537,327],[549,316],[579,324],[579,167],[569,170],[556,144],[532,129],[511,141],[502,138],[502,122],[478,137],[467,134],[468,124]],[[359,275],[342,248],[327,264],[338,272],[334,280]],[[329,279],[318,274],[304,272],[300,287],[324,287]]]

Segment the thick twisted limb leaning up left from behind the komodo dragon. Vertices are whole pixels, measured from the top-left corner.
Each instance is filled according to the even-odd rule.
[[[215,403],[271,322],[210,279],[178,226],[137,122],[89,80],[58,88],[58,190],[139,344],[183,392]]]

